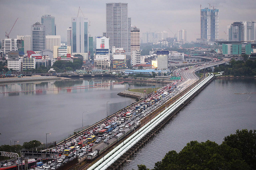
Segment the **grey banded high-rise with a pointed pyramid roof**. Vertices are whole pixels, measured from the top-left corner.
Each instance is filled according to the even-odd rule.
[[[31,25],[31,47],[33,51],[41,51],[45,46],[45,26],[37,21]]]

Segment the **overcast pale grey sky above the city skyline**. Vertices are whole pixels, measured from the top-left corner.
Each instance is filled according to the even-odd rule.
[[[66,42],[67,28],[71,27],[71,17],[76,17],[78,8],[91,21],[89,33],[92,36],[101,36],[106,31],[106,3],[118,1],[103,0],[0,0],[0,39],[5,38],[16,22],[9,38],[16,35],[30,35],[31,25],[41,16],[50,14],[55,17],[56,34],[61,35],[61,41]],[[227,25],[234,21],[256,21],[255,0],[123,0],[128,3],[128,17],[132,18],[132,25],[140,28],[141,33],[146,31],[167,31],[169,37],[180,29],[187,30],[188,41],[195,41],[200,35],[200,4],[202,8],[209,7],[209,2],[219,9],[219,38],[226,39],[224,31]],[[217,4],[217,5],[216,5]],[[212,7],[211,7],[212,8]],[[169,29],[170,30],[169,30]]]

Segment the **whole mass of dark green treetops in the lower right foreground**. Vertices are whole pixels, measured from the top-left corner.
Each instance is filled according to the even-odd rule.
[[[162,161],[155,163],[154,170],[169,169],[256,169],[256,130],[237,130],[224,138],[221,145],[190,141],[177,153],[166,153]],[[138,170],[147,170],[141,164]]]

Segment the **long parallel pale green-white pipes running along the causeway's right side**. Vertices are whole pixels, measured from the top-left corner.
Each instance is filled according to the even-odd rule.
[[[148,122],[146,125],[144,125],[141,129],[139,129],[137,132],[135,132],[133,135],[131,135],[129,138],[127,138],[125,141],[123,141],[123,144],[118,145],[117,147],[115,147],[112,151],[110,151],[108,154],[106,154],[104,156],[104,158],[108,158],[107,160],[103,160],[103,158],[101,158],[99,161],[97,161],[95,164],[93,164],[89,169],[100,169],[103,166],[103,169],[106,169],[108,166],[110,166],[113,162],[115,162],[115,160],[117,160],[123,153],[125,153],[127,150],[129,150],[137,141],[139,141],[146,133],[146,131],[148,131],[149,128],[151,128],[156,122],[158,122],[163,116],[165,116],[166,114],[169,115],[174,109],[171,109],[173,107],[178,107],[180,104],[182,104],[182,102],[184,101],[184,99],[187,99],[186,96],[192,95],[194,93],[195,90],[198,89],[198,87],[200,88],[202,85],[204,85],[208,80],[210,80],[212,78],[212,76],[207,77],[205,80],[203,80],[202,82],[200,82],[197,86],[195,86],[194,88],[192,88],[190,91],[188,91],[184,96],[182,96],[181,98],[179,98],[175,103],[173,103],[172,105],[170,105],[168,108],[166,108],[161,114],[158,114],[155,118],[153,118],[151,120],[151,122],[153,121],[153,123],[151,124],[151,122]],[[182,101],[180,103],[178,103],[179,101]],[[167,112],[168,111],[168,112]],[[161,119],[162,121],[162,119]],[[160,121],[160,122],[161,122]],[[159,123],[159,122],[158,122]],[[155,127],[155,126],[154,126]],[[141,132],[141,133],[140,133]],[[148,131],[149,132],[149,131]],[[145,133],[145,134],[144,134]],[[144,134],[144,135],[142,135]],[[142,136],[141,136],[142,135]],[[138,139],[138,140],[137,140]],[[136,141],[135,141],[136,140]],[[129,147],[128,147],[129,146]],[[122,154],[121,154],[122,153]],[[114,160],[114,161],[113,161]],[[104,161],[104,162],[103,162]]]

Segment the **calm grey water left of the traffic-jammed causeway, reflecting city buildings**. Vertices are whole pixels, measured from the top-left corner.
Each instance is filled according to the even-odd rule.
[[[88,86],[94,84],[120,82],[115,79],[93,80],[52,80],[0,84],[0,91],[25,91],[47,88]],[[151,84],[148,84],[151,87]],[[155,85],[159,87],[161,85]],[[30,140],[43,143],[59,141],[74,129],[92,125],[108,115],[135,102],[134,99],[118,96],[127,88],[145,88],[147,84],[128,83],[76,90],[52,90],[0,94],[0,145],[10,145],[10,140],[19,144]],[[14,144],[14,143],[12,143]],[[16,142],[17,144],[17,142]]]

